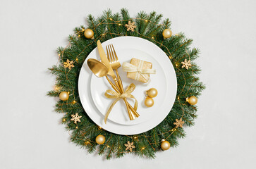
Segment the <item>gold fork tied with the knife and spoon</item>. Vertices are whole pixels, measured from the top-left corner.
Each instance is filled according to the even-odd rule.
[[[120,89],[121,93],[123,93],[124,92],[123,83],[121,81],[121,78],[120,78],[120,76],[118,74],[118,70],[117,70],[119,67],[121,67],[121,64],[118,61],[118,57],[116,55],[116,51],[114,49],[113,44],[111,44],[111,46],[110,45],[106,46],[106,55],[107,55],[107,58],[109,59],[109,63],[111,65],[111,68],[113,70],[116,70],[116,76],[117,76],[118,84],[119,84],[118,89]],[[126,102],[126,106],[129,107],[129,109],[133,113],[133,115],[135,115],[135,117],[138,118],[140,115],[134,110],[133,106],[130,106],[130,104],[128,103],[126,98],[124,99],[124,101]]]

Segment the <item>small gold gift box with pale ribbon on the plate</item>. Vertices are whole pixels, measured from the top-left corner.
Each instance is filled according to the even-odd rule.
[[[130,63],[123,63],[123,71],[127,72],[127,77],[140,82],[148,82],[150,74],[155,74],[156,70],[152,69],[152,63],[142,61],[138,58],[132,58]]]

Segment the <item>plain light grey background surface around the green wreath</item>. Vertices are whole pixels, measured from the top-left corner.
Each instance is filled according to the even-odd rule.
[[[157,11],[201,50],[195,126],[178,148],[149,160],[106,161],[69,141],[46,96],[56,47],[106,8]],[[255,1],[0,1],[0,168],[255,168]]]

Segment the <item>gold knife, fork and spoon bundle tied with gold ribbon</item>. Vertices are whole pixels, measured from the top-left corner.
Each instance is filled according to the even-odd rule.
[[[98,61],[94,58],[89,58],[87,60],[87,65],[89,66],[90,70],[92,70],[92,73],[94,73],[97,77],[106,77],[106,80],[108,80],[109,84],[111,84],[111,87],[115,90],[115,92],[107,90],[105,96],[107,96],[110,99],[116,99],[116,101],[114,101],[114,103],[109,108],[109,111],[106,113],[104,122],[106,123],[107,117],[111,109],[119,99],[123,99],[123,101],[125,101],[130,120],[135,120],[135,118],[138,118],[140,116],[137,113],[138,102],[135,99],[135,97],[130,94],[135,89],[135,85],[130,84],[128,89],[124,91],[122,80],[118,74],[118,68],[121,67],[121,64],[118,61],[118,57],[116,55],[116,51],[114,49],[113,44],[106,46],[107,56],[99,40],[97,41],[97,47],[99,50],[99,56],[101,58],[101,61]],[[114,73],[114,71],[116,72],[116,74]],[[110,75],[112,77],[115,84],[111,82],[107,75]],[[131,106],[126,98],[135,99],[135,106]]]

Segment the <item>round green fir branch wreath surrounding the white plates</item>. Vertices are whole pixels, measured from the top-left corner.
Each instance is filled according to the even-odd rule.
[[[75,35],[68,37],[69,44],[57,49],[59,63],[49,68],[51,73],[56,75],[55,89],[48,92],[49,96],[59,96],[63,91],[69,92],[67,101],[57,101],[56,112],[63,113],[62,123],[66,124],[66,129],[71,134],[71,141],[87,149],[89,153],[95,150],[99,155],[119,158],[126,153],[133,153],[139,156],[154,158],[156,151],[161,151],[161,141],[165,139],[171,146],[178,145],[178,138],[185,137],[182,126],[173,123],[182,119],[185,126],[194,124],[197,117],[197,107],[188,104],[186,98],[189,96],[199,96],[205,85],[199,81],[196,74],[200,73],[200,68],[191,62],[191,66],[183,66],[185,59],[193,61],[198,57],[198,49],[190,49],[192,39],[186,39],[183,33],[178,33],[168,39],[164,39],[162,32],[171,26],[167,18],[161,24],[162,15],[152,12],[147,14],[140,12],[135,18],[130,18],[126,8],[121,9],[121,13],[111,13],[111,10],[104,11],[99,18],[92,15],[87,17],[87,27],[75,27]],[[128,21],[135,22],[135,30],[127,29]],[[94,32],[94,39],[87,39],[84,31],[90,28]],[[135,36],[147,39],[157,44],[173,63],[176,70],[178,90],[176,101],[169,115],[148,132],[137,135],[119,135],[103,130],[97,126],[85,113],[78,96],[78,76],[80,68],[88,54],[97,47],[97,40],[104,42],[108,39],[119,36]],[[66,65],[68,63],[68,65]],[[80,122],[74,123],[72,115],[78,113]],[[95,138],[102,134],[106,137],[106,142],[99,145]],[[133,142],[135,148],[132,151],[126,149],[125,144]]]

